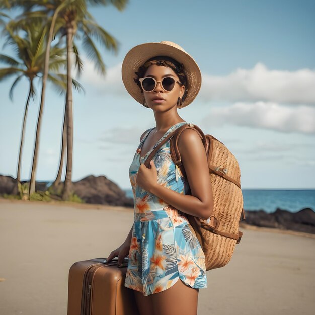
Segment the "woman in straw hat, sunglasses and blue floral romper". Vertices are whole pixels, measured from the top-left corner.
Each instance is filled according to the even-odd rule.
[[[197,314],[199,289],[207,288],[205,257],[184,213],[205,220],[212,213],[204,146],[193,129],[181,133],[178,149],[187,179],[171,159],[169,140],[149,168],[144,162],[168,134],[187,124],[177,109],[198,94],[200,70],[182,47],[163,41],[132,48],[122,64],[122,78],[130,95],[153,110],[156,126],[141,135],[129,168],[134,224],[107,261],[118,256],[120,264],[128,255],[125,286],[134,290],[141,315]]]

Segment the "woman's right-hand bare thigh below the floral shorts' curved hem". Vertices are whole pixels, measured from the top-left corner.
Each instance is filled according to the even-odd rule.
[[[170,288],[151,294],[154,315],[197,315],[199,289],[181,279]]]

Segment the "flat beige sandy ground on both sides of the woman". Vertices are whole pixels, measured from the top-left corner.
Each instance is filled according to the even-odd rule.
[[[70,266],[107,257],[132,223],[121,207],[0,199],[0,314],[66,314]],[[314,235],[240,230],[231,261],[207,272],[198,314],[313,314]]]

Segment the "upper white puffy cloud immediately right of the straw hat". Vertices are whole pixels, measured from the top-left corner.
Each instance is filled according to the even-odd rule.
[[[203,74],[200,97],[204,101],[272,101],[315,105],[315,71],[269,70],[262,63],[238,68],[227,76]],[[199,96],[198,96],[199,97]]]

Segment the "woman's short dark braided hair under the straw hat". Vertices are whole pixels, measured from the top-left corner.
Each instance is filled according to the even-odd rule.
[[[184,102],[186,99],[186,96],[187,96],[187,92],[188,92],[188,90],[187,90],[187,78],[186,78],[186,75],[184,73],[184,65],[183,65],[183,63],[179,63],[175,59],[168,57],[168,56],[152,57],[152,58],[148,59],[147,61],[145,61],[145,63],[139,67],[137,72],[134,72],[137,75],[137,77],[134,78],[133,80],[139,86],[141,93],[143,93],[143,90],[142,90],[139,78],[144,77],[145,72],[147,71],[148,67],[152,64],[163,65],[165,67],[169,67],[178,75],[180,83],[185,86],[185,92],[184,92],[184,95],[182,97],[182,100]]]

